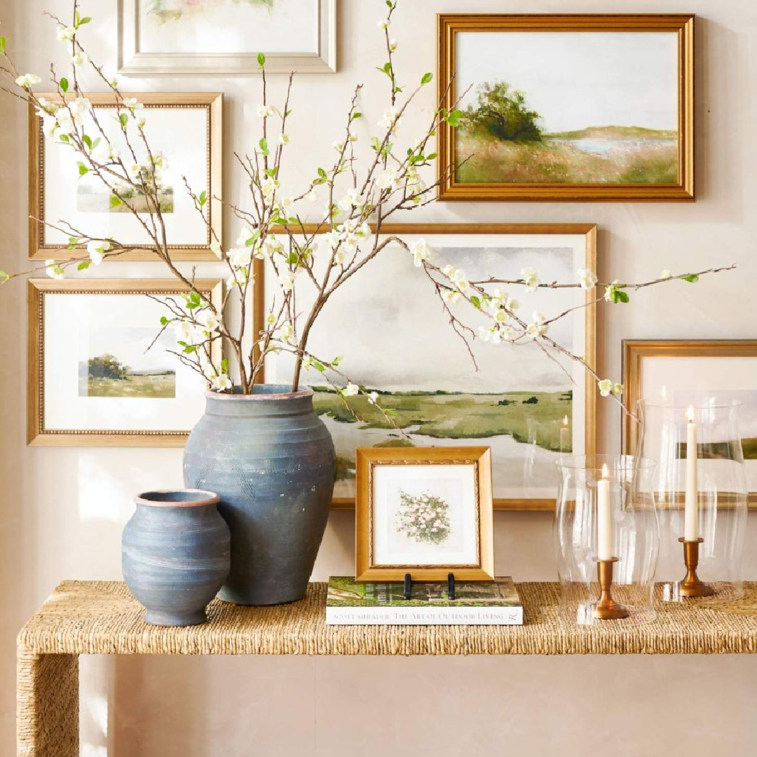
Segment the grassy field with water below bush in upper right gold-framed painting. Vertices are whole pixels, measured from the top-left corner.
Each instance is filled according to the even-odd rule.
[[[678,182],[676,132],[604,126],[518,142],[497,139],[480,127],[461,127],[455,146],[456,180],[463,183]]]

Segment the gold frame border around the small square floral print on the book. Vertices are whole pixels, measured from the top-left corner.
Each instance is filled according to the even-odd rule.
[[[372,492],[369,471],[373,465],[380,465],[393,459],[403,462],[428,459],[437,462],[475,463],[478,491],[478,551],[479,565],[455,566],[435,565],[416,567],[413,565],[378,567],[371,565],[372,542]],[[356,581],[401,581],[410,573],[413,581],[442,581],[453,572],[458,581],[494,580],[494,521],[492,508],[491,450],[489,447],[359,447],[356,450],[357,503],[355,509],[355,575]]]

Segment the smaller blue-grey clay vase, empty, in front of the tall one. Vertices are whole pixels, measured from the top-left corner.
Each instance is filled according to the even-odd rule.
[[[152,625],[197,625],[226,581],[229,527],[209,491],[151,491],[123,529],[123,578]]]

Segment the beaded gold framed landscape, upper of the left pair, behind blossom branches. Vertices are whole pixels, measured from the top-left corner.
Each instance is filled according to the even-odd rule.
[[[39,95],[60,103],[56,94]],[[145,138],[153,154],[162,153],[166,162],[161,188],[162,214],[173,260],[219,260],[210,248],[211,229],[223,238],[223,95],[220,92],[129,93],[142,104]],[[99,126],[85,117],[90,139],[103,134],[119,151],[126,169],[134,162],[148,162],[145,145],[139,140],[126,144],[119,120],[117,96],[113,93],[88,95]],[[89,128],[88,128],[89,127]],[[102,129],[102,132],[100,132]],[[42,118],[29,109],[29,254],[36,260],[86,257],[86,248],[68,248],[72,229],[94,238],[114,238],[122,245],[134,246],[114,260],[157,260],[139,245],[151,242],[141,223],[136,195],[120,204],[111,202],[111,191],[94,173],[79,173],[79,154],[56,137],[45,135]],[[207,193],[205,220],[187,192],[185,181],[195,195]],[[128,188],[125,189],[125,192]],[[132,203],[132,205],[128,205]],[[147,216],[145,215],[145,218]],[[62,223],[65,219],[66,223]]]

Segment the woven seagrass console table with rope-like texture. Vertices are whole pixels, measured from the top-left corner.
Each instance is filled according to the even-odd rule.
[[[23,757],[78,757],[79,655],[565,655],[757,653],[757,584],[727,609],[660,605],[653,623],[584,628],[558,612],[559,584],[518,584],[523,626],[327,626],[326,584],[301,602],[213,600],[191,628],[142,622],[126,584],[65,581],[23,627],[17,745]]]

